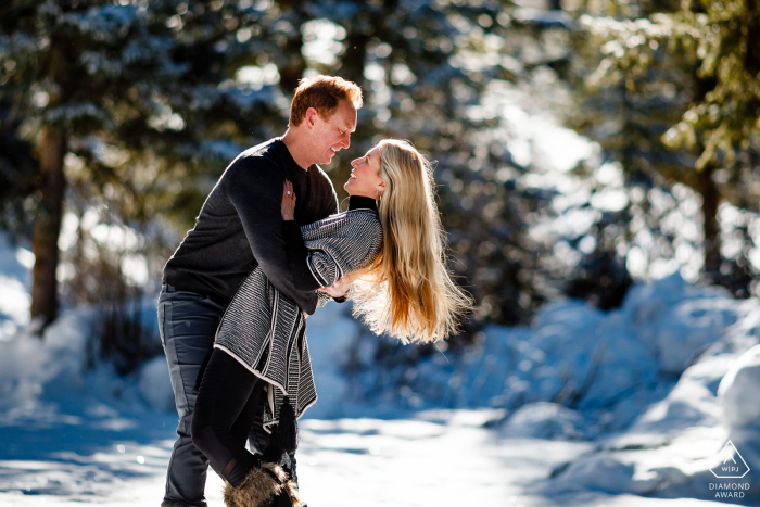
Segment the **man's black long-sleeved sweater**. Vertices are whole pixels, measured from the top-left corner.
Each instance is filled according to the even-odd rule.
[[[164,282],[229,304],[256,266],[301,309],[314,313],[317,296],[296,290],[288,267],[280,203],[284,179],[297,197],[300,226],[338,211],[327,175],[316,165],[301,168],[280,138],[242,152],[206,198],[195,227],[164,266]]]

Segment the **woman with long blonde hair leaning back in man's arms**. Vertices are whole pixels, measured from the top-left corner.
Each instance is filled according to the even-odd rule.
[[[295,288],[316,290],[347,276],[354,314],[376,333],[405,343],[446,338],[470,300],[446,269],[430,164],[410,143],[384,140],[352,166],[349,211],[301,230],[286,182],[283,232]],[[264,456],[245,449],[259,396],[267,396],[264,426],[276,436]],[[315,401],[305,318],[256,268],[219,324],[192,421],[193,443],[227,481],[227,505],[297,505],[275,464],[295,449],[295,419]]]

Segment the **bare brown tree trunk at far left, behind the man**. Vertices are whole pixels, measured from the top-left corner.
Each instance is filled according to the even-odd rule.
[[[61,128],[47,127],[40,145],[41,202],[35,220],[31,239],[35,251],[34,280],[31,284],[31,318],[39,322],[41,332],[58,315],[58,237],[61,231],[63,213],[63,155],[66,153],[66,138]]]

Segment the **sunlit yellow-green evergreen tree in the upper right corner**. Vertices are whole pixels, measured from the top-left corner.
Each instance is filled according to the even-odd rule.
[[[601,48],[588,77],[600,90],[594,100],[608,109],[619,104],[605,118],[626,115],[622,125],[634,130],[592,137],[606,137],[606,148],[628,159],[626,167],[685,182],[701,195],[704,271],[731,283],[725,279],[731,266],[721,256],[718,207],[727,199],[757,210],[751,195],[758,175],[750,162],[760,130],[756,2],[609,0],[593,9],[588,3],[587,12],[581,22],[591,38],[581,45]],[[609,101],[611,96],[619,100]],[[597,134],[603,125],[597,122]],[[612,138],[618,147],[609,145]],[[736,263],[748,269],[746,258]]]

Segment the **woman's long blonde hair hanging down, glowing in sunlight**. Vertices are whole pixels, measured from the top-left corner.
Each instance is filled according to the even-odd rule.
[[[355,274],[354,315],[370,329],[404,343],[427,343],[456,332],[472,301],[447,269],[446,232],[435,205],[430,162],[408,141],[380,141],[385,183],[378,211],[380,256]]]

